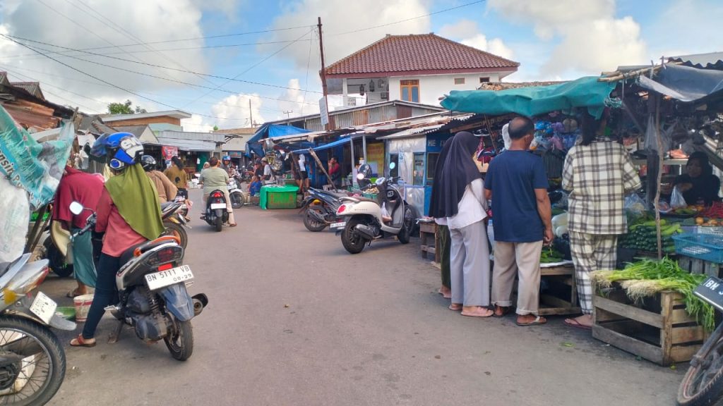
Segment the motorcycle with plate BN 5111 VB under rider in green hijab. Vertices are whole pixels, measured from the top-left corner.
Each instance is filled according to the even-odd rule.
[[[87,209],[73,202],[70,210],[79,215]],[[95,226],[95,212],[87,222],[78,234]],[[191,319],[208,305],[208,298],[203,293],[189,295],[186,285],[194,275],[191,267],[181,265],[183,256],[184,249],[175,236],[162,236],[121,254],[121,269],[116,274],[119,303],[106,308],[119,320],[109,342],[117,342],[124,324],[129,324],[143,341],[166,342],[176,360],[191,357]]]

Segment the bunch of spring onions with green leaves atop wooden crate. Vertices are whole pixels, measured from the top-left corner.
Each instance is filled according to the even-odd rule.
[[[662,290],[673,290],[683,295],[685,311],[697,319],[707,331],[715,327],[715,311],[713,306],[693,294],[706,275],[693,275],[680,269],[677,262],[665,257],[660,261],[643,259],[641,262],[628,264],[625,269],[615,271],[594,272],[593,279],[603,288],[612,282],[620,282],[625,293],[633,301],[649,297]]]

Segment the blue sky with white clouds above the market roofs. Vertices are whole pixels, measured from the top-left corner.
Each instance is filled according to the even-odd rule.
[[[192,113],[187,131],[247,127],[319,111],[317,17],[327,65],[436,33],[518,61],[508,82],[723,51],[717,0],[1,0],[0,71],[85,113],[131,100]]]

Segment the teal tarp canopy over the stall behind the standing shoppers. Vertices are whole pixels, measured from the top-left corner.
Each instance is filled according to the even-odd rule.
[[[597,77],[581,77],[560,85],[519,87],[508,90],[453,90],[442,100],[442,107],[464,113],[502,114],[517,113],[537,116],[556,110],[587,107],[591,115],[599,118],[605,100],[617,82],[598,82]]]

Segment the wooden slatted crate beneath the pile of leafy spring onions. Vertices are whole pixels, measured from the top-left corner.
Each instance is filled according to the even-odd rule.
[[[680,293],[633,303],[619,285],[594,292],[592,336],[628,353],[668,366],[693,358],[708,337],[688,316]]]

